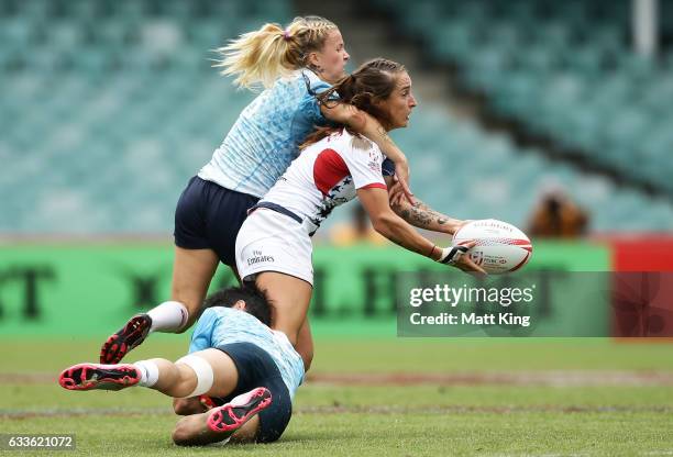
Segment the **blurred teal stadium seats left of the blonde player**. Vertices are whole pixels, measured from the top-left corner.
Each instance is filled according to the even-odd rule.
[[[0,2],[0,230],[170,227],[187,179],[254,97],[217,75],[210,49],[269,11],[291,19],[276,0]]]

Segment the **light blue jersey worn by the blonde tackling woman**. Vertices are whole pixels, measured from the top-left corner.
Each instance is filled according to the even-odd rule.
[[[326,119],[315,93],[330,88],[307,69],[279,78],[250,103],[199,171],[199,178],[261,198],[299,154],[299,145]]]

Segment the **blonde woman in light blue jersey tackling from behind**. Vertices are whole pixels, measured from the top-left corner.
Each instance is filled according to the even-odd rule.
[[[352,105],[321,104],[316,98],[344,76],[349,59],[332,22],[307,16],[286,29],[266,24],[219,52],[222,74],[236,76],[241,87],[266,89],[243,110],[178,201],[170,301],[133,316],[110,336],[101,348],[103,364],[120,361],[151,332],[179,333],[194,323],[219,261],[235,272],[235,238],[247,210],[286,170],[316,124],[331,120],[350,125],[396,161],[401,183],[408,177],[404,154],[375,119]],[[310,336],[310,331],[304,334]]]

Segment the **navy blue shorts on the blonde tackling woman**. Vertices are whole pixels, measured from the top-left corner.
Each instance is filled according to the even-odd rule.
[[[257,200],[206,181],[189,180],[175,210],[175,244],[185,249],[214,250],[222,264],[236,267],[236,235]]]

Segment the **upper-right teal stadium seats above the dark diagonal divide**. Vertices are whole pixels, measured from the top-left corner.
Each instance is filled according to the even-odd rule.
[[[673,196],[673,67],[631,52],[630,1],[375,2],[437,62],[456,65],[462,85],[497,114]],[[664,33],[673,31],[672,7],[662,2]]]

